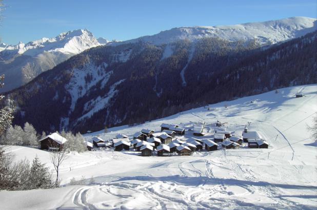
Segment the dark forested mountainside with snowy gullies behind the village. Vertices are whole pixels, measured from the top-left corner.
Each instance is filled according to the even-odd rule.
[[[262,48],[221,38],[91,48],[6,94],[14,123],[86,132],[317,83],[317,32]]]

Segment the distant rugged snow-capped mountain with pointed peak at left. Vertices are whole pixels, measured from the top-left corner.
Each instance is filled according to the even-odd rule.
[[[69,57],[92,47],[105,45],[99,43],[86,29],[68,31],[53,38],[41,38],[27,44],[0,45],[0,74],[5,74],[2,92],[17,88],[29,82],[38,74],[52,69]]]

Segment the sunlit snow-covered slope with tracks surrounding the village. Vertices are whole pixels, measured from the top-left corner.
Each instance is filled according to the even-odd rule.
[[[295,98],[301,92],[305,96]],[[192,156],[142,157],[139,152],[92,151],[71,153],[62,165],[62,183],[71,178],[95,183],[53,190],[0,192],[4,209],[314,209],[317,206],[317,144],[307,131],[317,112],[317,85],[280,89],[261,95],[210,104],[164,119],[86,134],[107,140],[117,134],[130,137],[143,128],[160,130],[160,124],[177,123],[186,129],[206,122],[211,138],[216,120],[241,135],[262,134],[269,149],[195,152]],[[225,105],[227,108],[225,108]],[[209,108],[209,109],[208,109]],[[186,131],[183,140],[192,137]],[[49,166],[49,154],[11,146],[16,160],[37,154]],[[44,196],[45,195],[45,196]]]

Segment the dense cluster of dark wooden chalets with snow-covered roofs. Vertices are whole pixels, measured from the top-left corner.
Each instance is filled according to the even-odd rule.
[[[185,129],[177,124],[161,124],[161,131],[155,132],[151,129],[142,129],[135,133],[130,139],[129,136],[118,134],[112,140],[103,140],[100,137],[92,137],[92,142],[87,142],[88,150],[96,148],[114,148],[114,151],[137,151],[141,152],[142,156],[170,156],[172,154],[191,155],[195,151],[215,151],[220,148],[237,149],[243,145],[243,142],[248,143],[248,148],[268,148],[269,144],[263,140],[262,136],[256,131],[248,131],[245,127],[242,132],[242,137],[232,135],[232,132],[227,131],[223,127],[224,123],[217,121],[216,129],[213,138],[199,139],[194,136],[204,136],[204,123],[193,124],[192,129],[187,132],[192,132],[192,137],[186,141],[181,137],[185,135]]]

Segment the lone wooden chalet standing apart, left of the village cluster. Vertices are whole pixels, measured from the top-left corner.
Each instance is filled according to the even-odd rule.
[[[62,150],[66,141],[67,139],[60,134],[52,133],[38,142],[41,142],[41,150]]]

